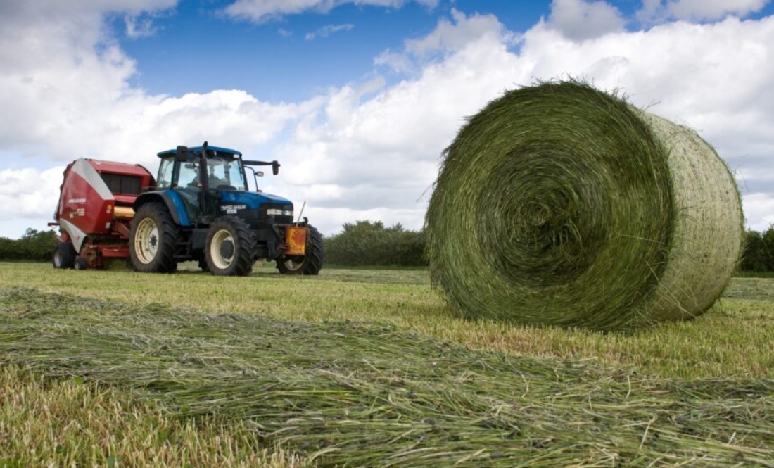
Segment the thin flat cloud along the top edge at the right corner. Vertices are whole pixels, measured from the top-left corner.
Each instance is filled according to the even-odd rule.
[[[637,12],[643,21],[682,19],[686,21],[716,21],[728,15],[744,18],[759,12],[769,0],[644,0]]]

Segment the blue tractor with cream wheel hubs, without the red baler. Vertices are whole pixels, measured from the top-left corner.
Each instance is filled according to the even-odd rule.
[[[245,166],[272,166],[276,175],[278,162],[246,161],[241,152],[207,142],[158,155],[156,187],[134,203],[129,258],[135,270],[172,273],[180,261],[198,261],[213,275],[244,276],[263,259],[276,261],[283,274],[320,272],[320,232],[307,218],[293,221],[290,200],[248,191]]]

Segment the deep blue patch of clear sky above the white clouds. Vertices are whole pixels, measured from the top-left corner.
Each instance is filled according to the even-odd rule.
[[[143,15],[134,21],[152,22],[154,32],[139,38],[128,36],[125,15],[115,15],[113,33],[140,65],[132,84],[152,94],[233,88],[265,101],[299,101],[375,71],[399,79],[375,67],[375,57],[426,36],[452,9],[495,13],[512,30],[526,30],[550,12],[549,2],[440,2],[432,8],[416,2],[400,8],[345,3],[256,24],[226,16],[230,4],[189,0]]]

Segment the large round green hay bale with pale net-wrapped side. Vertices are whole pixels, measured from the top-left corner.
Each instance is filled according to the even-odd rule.
[[[461,316],[601,330],[704,313],[744,234],[707,142],[576,81],[509,91],[470,118],[425,227],[433,285]]]

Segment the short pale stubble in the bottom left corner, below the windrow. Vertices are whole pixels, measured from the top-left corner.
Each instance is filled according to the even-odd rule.
[[[244,424],[176,418],[149,401],[84,377],[0,369],[0,466],[310,466],[262,448]]]

